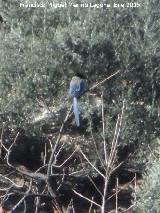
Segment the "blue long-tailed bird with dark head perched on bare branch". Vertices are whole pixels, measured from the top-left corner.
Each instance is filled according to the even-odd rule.
[[[80,111],[78,107],[77,98],[80,97],[85,90],[86,90],[85,79],[79,76],[74,76],[70,82],[69,95],[70,97],[73,98],[73,112],[75,115],[75,121],[76,121],[77,127],[80,126]]]

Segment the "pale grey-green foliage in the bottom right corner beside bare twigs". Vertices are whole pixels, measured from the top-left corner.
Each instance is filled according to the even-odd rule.
[[[136,212],[158,212],[160,209],[160,140],[153,141],[154,149],[148,156],[144,181],[137,189]],[[156,147],[156,148],[155,148]]]

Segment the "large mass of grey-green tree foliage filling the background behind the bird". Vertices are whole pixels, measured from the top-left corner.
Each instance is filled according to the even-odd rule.
[[[150,143],[159,131],[159,2],[139,3],[140,8],[55,9],[2,0],[0,108],[10,125],[31,125],[42,110],[39,100],[55,111],[67,106],[75,73],[90,87],[120,70],[95,89],[97,97],[104,93],[107,135],[125,99],[123,144]],[[101,108],[92,99],[82,99],[81,111],[94,125]]]

